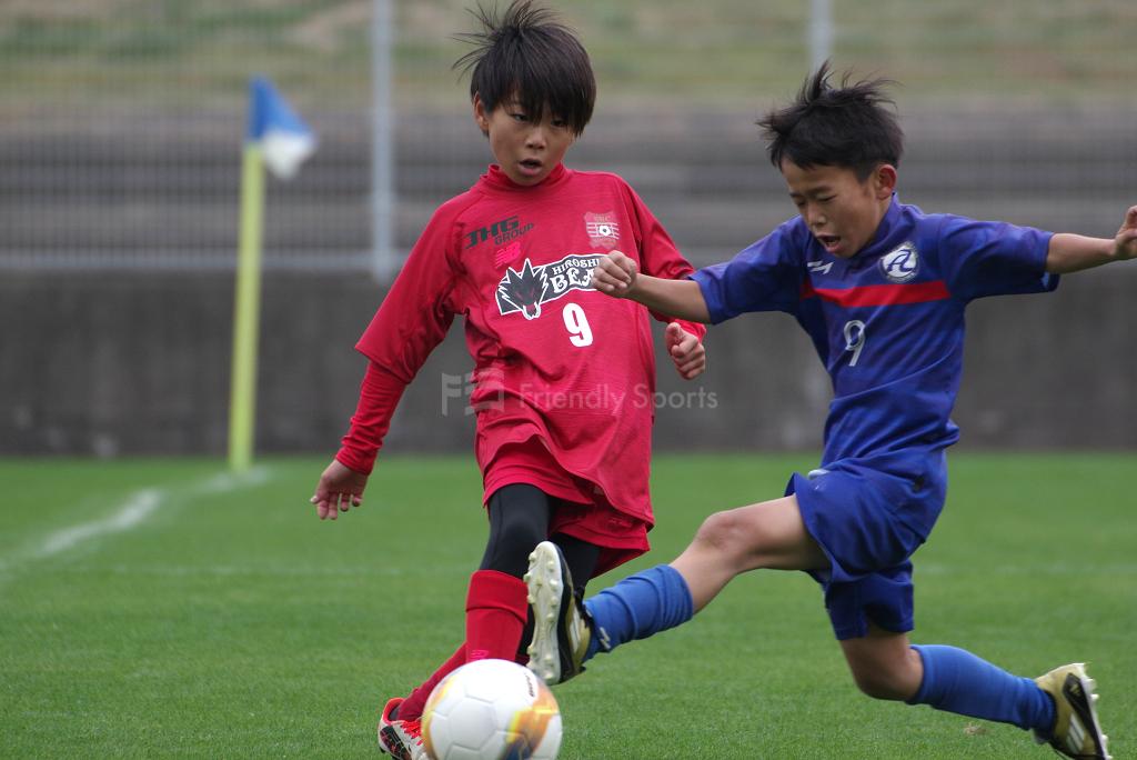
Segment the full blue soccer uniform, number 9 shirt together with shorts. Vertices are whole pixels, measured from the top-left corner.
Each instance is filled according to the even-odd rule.
[[[824,586],[838,638],[869,622],[911,630],[911,554],[947,494],[944,449],[963,366],[963,312],[982,296],[1053,290],[1051,233],[889,206],[873,241],[829,254],[794,218],[730,262],[703,269],[715,323],[780,311],[798,321],[829,372],[833,400],[821,466],[795,474],[810,535],[830,560]]]

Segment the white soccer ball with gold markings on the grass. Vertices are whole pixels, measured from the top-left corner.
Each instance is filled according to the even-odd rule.
[[[529,668],[474,660],[431,692],[422,732],[432,760],[554,760],[561,710]]]

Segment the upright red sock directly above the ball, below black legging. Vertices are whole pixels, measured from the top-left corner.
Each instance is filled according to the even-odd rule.
[[[479,570],[466,596],[466,661],[514,660],[529,614],[525,581],[497,570]]]

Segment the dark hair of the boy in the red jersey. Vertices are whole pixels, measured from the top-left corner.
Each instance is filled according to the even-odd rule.
[[[476,46],[454,67],[471,72],[470,98],[479,96],[487,110],[516,97],[534,121],[548,108],[574,134],[584,131],[596,102],[596,77],[588,52],[567,26],[531,0],[516,0],[500,18],[497,8],[479,5],[470,11],[481,32],[455,39]]]

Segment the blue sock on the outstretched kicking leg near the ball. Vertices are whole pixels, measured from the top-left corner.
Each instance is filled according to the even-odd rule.
[[[592,638],[584,659],[674,628],[691,619],[694,608],[687,581],[670,564],[629,576],[584,602],[592,617]]]

